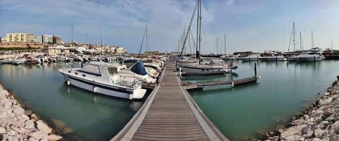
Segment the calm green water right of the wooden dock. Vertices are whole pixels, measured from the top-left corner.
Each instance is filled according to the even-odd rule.
[[[254,76],[255,62],[240,62],[232,74],[207,78],[187,77],[184,81],[211,82]],[[256,62],[258,83],[210,87],[189,93],[200,109],[231,141],[257,137],[258,131],[274,130],[302,112],[336,80],[339,61],[316,63]],[[244,72],[241,72],[244,71]],[[238,73],[234,73],[238,72]]]

